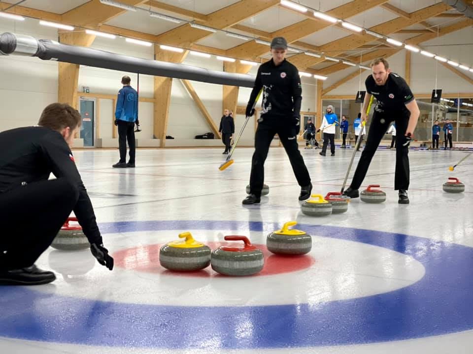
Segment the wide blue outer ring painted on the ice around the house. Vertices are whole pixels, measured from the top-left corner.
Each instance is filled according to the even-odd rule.
[[[101,230],[104,234],[212,229],[244,233],[279,227],[242,221],[133,221],[102,224]],[[257,349],[386,342],[473,328],[473,248],[371,230],[301,224],[298,228],[411,256],[425,267],[425,276],[396,291],[317,306],[126,304],[2,287],[0,336],[94,346]],[[248,323],[251,330],[245,330]]]

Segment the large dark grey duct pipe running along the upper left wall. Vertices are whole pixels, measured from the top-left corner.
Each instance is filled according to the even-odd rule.
[[[5,32],[0,35],[1,55],[24,55],[42,60],[100,67],[145,75],[200,81],[210,84],[252,88],[255,76],[213,71],[191,65],[140,59],[97,49],[71,46],[34,37]]]

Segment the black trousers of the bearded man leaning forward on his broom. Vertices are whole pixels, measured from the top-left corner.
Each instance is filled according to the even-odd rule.
[[[381,119],[384,119],[383,123],[381,123]],[[399,132],[399,134],[396,135],[396,169],[394,175],[394,189],[398,190],[409,188],[409,148],[404,147],[403,144],[400,143],[400,140],[404,136],[405,130],[407,129],[409,118],[405,116],[403,117],[401,115],[396,115],[394,117],[386,114],[385,112],[374,112],[373,114],[365,149],[361,153],[360,161],[358,161],[358,166],[356,167],[355,175],[353,176],[353,180],[350,185],[351,188],[360,188],[361,183],[365,179],[366,173],[368,172],[368,168],[370,167],[374,152],[378,148],[381,139],[383,138],[392,121],[396,122],[396,129],[398,129]]]

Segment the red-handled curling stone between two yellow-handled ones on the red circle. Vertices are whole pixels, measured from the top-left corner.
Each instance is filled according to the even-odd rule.
[[[263,252],[253,246],[245,236],[225,236],[226,241],[243,241],[243,247],[220,246],[212,251],[210,265],[224,275],[253,275],[265,264]]]

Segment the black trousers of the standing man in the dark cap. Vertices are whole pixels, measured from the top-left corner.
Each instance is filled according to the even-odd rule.
[[[304,164],[299,146],[295,127],[289,121],[289,117],[268,117],[258,124],[255,133],[255,152],[251,162],[250,193],[261,196],[263,182],[265,179],[264,164],[270,144],[274,135],[277,134],[282,146],[286,150],[292,170],[300,186],[310,184],[310,176]]]

